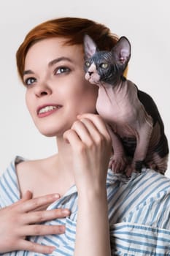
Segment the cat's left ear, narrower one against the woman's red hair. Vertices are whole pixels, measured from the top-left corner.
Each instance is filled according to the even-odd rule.
[[[90,58],[93,56],[94,53],[96,53],[96,43],[93,41],[91,37],[88,36],[88,34],[85,34],[84,37],[84,51],[85,51],[85,57]]]

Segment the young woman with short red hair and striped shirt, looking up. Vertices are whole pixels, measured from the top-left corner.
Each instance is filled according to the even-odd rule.
[[[28,110],[58,154],[16,157],[1,177],[1,255],[169,255],[169,178],[107,170],[111,140],[96,113],[98,88],[84,78],[85,34],[106,50],[117,41],[92,20],[58,18],[18,49]]]

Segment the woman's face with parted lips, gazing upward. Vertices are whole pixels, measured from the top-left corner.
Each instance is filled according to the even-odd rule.
[[[82,46],[64,42],[63,38],[43,39],[26,55],[26,105],[46,136],[61,136],[78,114],[96,111],[98,88],[85,80]]]

